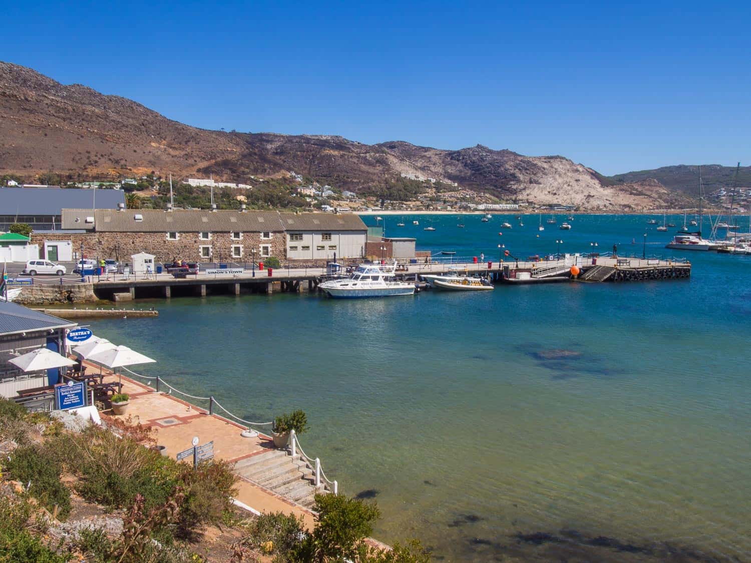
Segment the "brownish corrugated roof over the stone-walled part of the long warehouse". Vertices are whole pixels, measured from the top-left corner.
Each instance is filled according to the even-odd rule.
[[[86,223],[93,217],[94,223]],[[282,223],[276,211],[198,211],[175,209],[63,209],[62,228],[95,229],[100,233],[231,233],[281,232]]]

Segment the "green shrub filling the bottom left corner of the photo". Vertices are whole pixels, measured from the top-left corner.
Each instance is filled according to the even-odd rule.
[[[13,563],[65,563],[27,528],[33,507],[25,498],[0,497],[0,561]]]

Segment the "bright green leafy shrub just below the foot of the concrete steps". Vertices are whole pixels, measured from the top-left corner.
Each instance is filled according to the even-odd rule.
[[[294,561],[355,561],[367,549],[363,540],[372,534],[381,512],[375,504],[345,495],[315,495],[315,528],[297,547]]]

